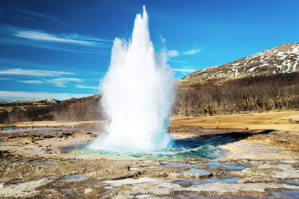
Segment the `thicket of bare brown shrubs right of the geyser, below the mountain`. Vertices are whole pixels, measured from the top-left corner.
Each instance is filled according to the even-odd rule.
[[[299,109],[299,73],[180,86],[171,114],[198,116],[289,109]]]

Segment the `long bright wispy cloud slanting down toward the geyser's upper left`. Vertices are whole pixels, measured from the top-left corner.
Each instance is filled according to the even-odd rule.
[[[0,25],[0,43],[95,54],[110,51],[112,41],[77,33],[48,33],[39,29]],[[22,39],[21,39],[22,38]]]

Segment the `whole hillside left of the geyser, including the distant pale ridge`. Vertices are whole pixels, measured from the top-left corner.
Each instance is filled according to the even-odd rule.
[[[79,99],[0,101],[0,124],[20,121],[92,121],[103,118],[101,95]]]

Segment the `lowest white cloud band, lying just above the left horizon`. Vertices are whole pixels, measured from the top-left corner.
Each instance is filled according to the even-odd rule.
[[[47,93],[47,92],[22,92],[22,91],[0,91],[1,100],[25,100],[25,99],[55,99],[67,100],[70,98],[84,98],[94,94],[69,94],[69,93]]]

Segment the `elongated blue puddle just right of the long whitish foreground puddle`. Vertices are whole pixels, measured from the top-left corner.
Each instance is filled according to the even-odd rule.
[[[190,187],[193,185],[205,185],[205,184],[211,184],[216,182],[223,182],[223,183],[237,183],[240,179],[238,178],[225,178],[225,179],[217,179],[217,178],[211,178],[206,180],[182,180],[182,181],[174,181],[173,183],[180,184],[183,187]]]

